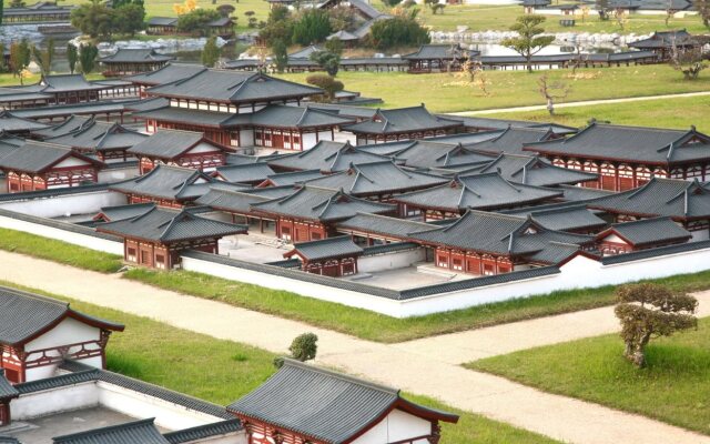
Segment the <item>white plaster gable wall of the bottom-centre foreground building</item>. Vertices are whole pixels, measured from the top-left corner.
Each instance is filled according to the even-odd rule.
[[[394,410],[367,433],[353,441],[353,444],[397,443],[417,436],[426,436],[430,433],[430,422],[406,412]],[[420,441],[426,443],[426,440]]]

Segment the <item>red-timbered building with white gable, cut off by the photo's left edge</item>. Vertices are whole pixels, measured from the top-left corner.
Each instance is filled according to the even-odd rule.
[[[67,302],[0,287],[0,371],[11,383],[51,376],[67,357],[103,369],[115,331],[123,325],[88,316]]]

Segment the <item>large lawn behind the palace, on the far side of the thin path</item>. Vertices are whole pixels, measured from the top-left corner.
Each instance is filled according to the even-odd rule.
[[[571,91],[565,101],[617,99],[710,90],[710,74],[701,73],[694,81],[667,64],[623,68],[546,71],[550,81],[562,81]],[[418,105],[424,102],[430,111],[456,112],[545,104],[538,90],[541,72],[486,71],[489,95],[477,87],[467,85],[456,74],[409,74],[406,72],[339,72],[345,89],[359,91],[364,97],[382,98],[383,108]],[[307,73],[283,77],[305,82]],[[413,93],[417,92],[417,93]]]

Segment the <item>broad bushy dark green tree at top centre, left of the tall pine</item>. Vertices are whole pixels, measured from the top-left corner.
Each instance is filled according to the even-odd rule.
[[[368,43],[379,50],[395,47],[418,47],[429,43],[432,38],[417,21],[419,10],[402,10],[392,19],[378,20],[369,29]]]

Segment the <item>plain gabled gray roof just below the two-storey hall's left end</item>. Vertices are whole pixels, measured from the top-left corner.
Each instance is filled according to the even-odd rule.
[[[201,142],[226,151],[224,147],[206,139],[202,132],[160,129],[140,140],[126,152],[159,159],[175,159]]]

